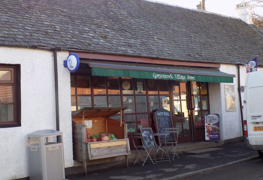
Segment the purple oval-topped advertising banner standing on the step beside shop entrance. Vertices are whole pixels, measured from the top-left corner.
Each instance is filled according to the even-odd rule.
[[[209,142],[220,141],[220,124],[218,114],[206,114],[205,140]]]

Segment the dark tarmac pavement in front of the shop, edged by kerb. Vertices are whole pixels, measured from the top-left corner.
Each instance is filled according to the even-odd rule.
[[[83,167],[66,168],[66,179],[174,180],[259,158],[257,151],[245,149],[243,141],[227,144],[222,142],[178,144],[177,152],[179,158],[174,158],[174,161],[156,164],[146,162],[144,166],[133,164],[134,160],[130,160],[128,168],[124,162],[118,165],[110,163],[110,166],[105,168],[103,164],[89,165],[86,177],[81,172]],[[79,171],[76,171],[77,168]]]

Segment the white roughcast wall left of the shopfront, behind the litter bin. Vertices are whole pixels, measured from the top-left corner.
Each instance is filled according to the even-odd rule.
[[[58,52],[60,131],[65,167],[73,166],[68,52]],[[21,64],[21,127],[0,128],[0,180],[28,177],[27,134],[56,130],[52,51],[0,47],[0,63]]]

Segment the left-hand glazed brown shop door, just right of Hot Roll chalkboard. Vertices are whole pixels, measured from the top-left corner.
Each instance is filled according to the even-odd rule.
[[[171,82],[172,94],[172,116],[174,127],[179,128],[179,143],[193,141],[192,120],[190,114],[190,92],[188,82]]]

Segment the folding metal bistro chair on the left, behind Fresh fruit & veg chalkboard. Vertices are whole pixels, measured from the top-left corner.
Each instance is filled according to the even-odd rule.
[[[145,164],[145,161],[147,160],[148,157],[150,158],[152,163],[155,164],[153,162],[152,158],[150,157],[150,153],[151,153],[151,151],[153,151],[154,146],[152,146],[152,145],[145,145],[145,143],[143,142],[143,138],[142,138],[142,134],[141,133],[133,132],[133,133],[131,133],[131,137],[132,137],[132,140],[133,140],[133,145],[134,145],[135,149],[137,150],[137,152],[139,153],[139,155],[137,156],[134,164],[137,162],[139,157],[143,161],[142,166]],[[140,139],[141,142],[142,142],[142,145],[136,146],[135,142],[134,142],[135,139]],[[147,153],[146,158],[142,156],[143,152]],[[154,155],[154,152],[153,152],[153,155]]]

